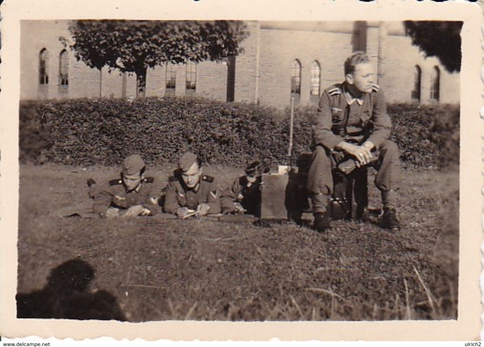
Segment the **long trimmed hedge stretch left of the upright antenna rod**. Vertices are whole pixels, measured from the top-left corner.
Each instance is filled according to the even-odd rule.
[[[282,115],[269,107],[197,98],[73,99],[20,105],[20,159],[117,165],[130,153],[176,163],[195,151],[210,164],[285,158]]]

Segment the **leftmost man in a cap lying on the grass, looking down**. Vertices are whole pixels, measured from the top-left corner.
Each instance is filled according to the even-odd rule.
[[[145,177],[146,165],[138,154],[126,157],[121,177],[94,188],[93,212],[115,218],[152,216],[160,211],[152,177]]]

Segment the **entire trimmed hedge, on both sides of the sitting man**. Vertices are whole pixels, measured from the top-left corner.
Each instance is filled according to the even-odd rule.
[[[442,167],[458,159],[459,113],[449,106],[389,106],[393,139],[407,166]],[[174,164],[184,151],[209,164],[244,166],[255,158],[287,164],[288,109],[199,98],[72,99],[20,105],[20,160],[119,165],[140,153]],[[315,110],[295,110],[293,157],[310,151]],[[453,157],[454,158],[454,157]]]

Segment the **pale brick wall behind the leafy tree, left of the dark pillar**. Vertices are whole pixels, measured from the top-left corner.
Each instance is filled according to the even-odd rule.
[[[136,75],[121,74],[119,70],[102,73],[77,61],[69,51],[69,86],[59,85],[59,55],[64,49],[59,37],[69,37],[67,21],[23,21],[21,24],[21,92],[22,100],[60,99],[80,97],[134,97]],[[39,54],[46,48],[49,52],[46,85],[39,84]],[[176,95],[185,95],[185,65],[177,65]],[[164,96],[166,92],[166,67],[148,69],[146,95]],[[123,90],[124,89],[124,90]],[[196,95],[217,100],[227,98],[227,63],[202,62],[197,64]]]

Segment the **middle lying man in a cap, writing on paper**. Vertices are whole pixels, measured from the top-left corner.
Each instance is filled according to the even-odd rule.
[[[203,175],[196,154],[186,152],[181,156],[178,170],[168,180],[164,209],[180,218],[220,213],[217,184],[212,176]]]

